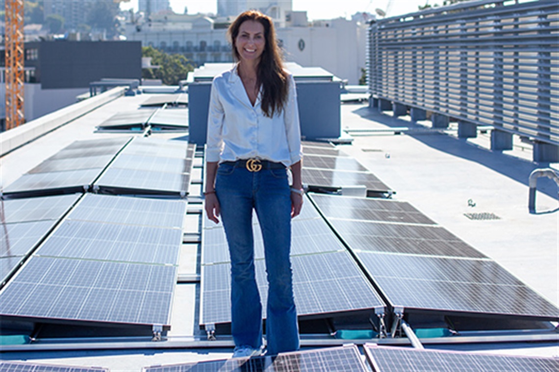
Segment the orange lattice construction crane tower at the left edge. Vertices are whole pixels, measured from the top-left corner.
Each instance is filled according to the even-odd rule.
[[[23,113],[23,0],[6,0],[6,129],[25,123]]]

